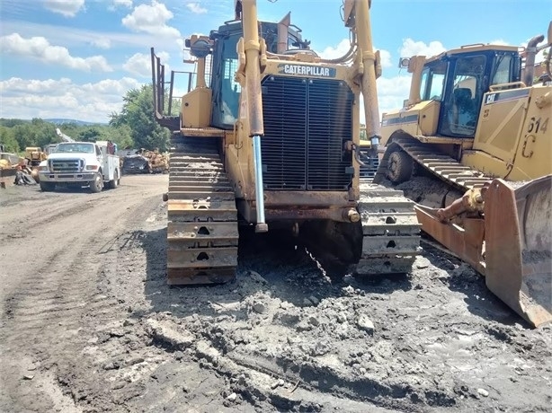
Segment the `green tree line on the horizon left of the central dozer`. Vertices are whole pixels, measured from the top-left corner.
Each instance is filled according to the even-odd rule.
[[[57,144],[61,138],[56,134],[58,127],[65,135],[76,141],[113,141],[120,149],[144,148],[168,150],[170,132],[160,127],[154,119],[152,86],[143,85],[132,89],[123,97],[120,113],[111,113],[107,124],[82,125],[74,123],[56,124],[43,119],[0,119],[0,144],[4,151],[22,154],[26,147]]]

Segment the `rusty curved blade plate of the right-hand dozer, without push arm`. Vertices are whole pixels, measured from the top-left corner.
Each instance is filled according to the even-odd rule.
[[[485,281],[535,327],[552,321],[552,175],[485,194]]]

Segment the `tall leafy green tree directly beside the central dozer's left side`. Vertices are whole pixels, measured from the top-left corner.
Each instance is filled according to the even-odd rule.
[[[140,89],[127,92],[120,113],[111,114],[110,126],[129,127],[133,146],[136,148],[159,149],[165,152],[169,145],[170,133],[154,119],[152,95],[151,85],[143,85]]]

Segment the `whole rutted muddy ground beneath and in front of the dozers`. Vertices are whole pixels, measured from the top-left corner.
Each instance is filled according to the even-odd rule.
[[[438,250],[331,279],[243,231],[235,282],[166,286],[166,184],[0,189],[0,411],[552,409],[550,327]]]

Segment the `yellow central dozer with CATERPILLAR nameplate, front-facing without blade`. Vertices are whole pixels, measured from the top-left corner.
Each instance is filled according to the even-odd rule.
[[[236,1],[233,20],[185,40],[195,87],[178,116],[175,72],[167,93],[165,65],[151,48],[156,120],[172,131],[169,284],[233,279],[238,224],[256,233],[289,229],[328,271],[411,270],[420,250],[414,203],[359,171],[361,93],[374,159],[380,137],[369,0],[339,5],[351,48],[325,59],[289,13],[259,22],[256,1]]]

